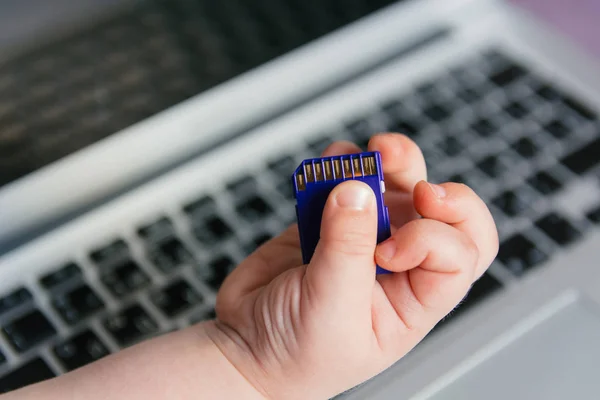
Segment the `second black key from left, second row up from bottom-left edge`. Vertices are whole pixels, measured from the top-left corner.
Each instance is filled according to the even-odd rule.
[[[104,302],[87,285],[55,296],[52,305],[71,325],[104,308]]]

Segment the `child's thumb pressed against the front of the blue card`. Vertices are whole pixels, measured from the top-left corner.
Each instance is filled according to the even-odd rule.
[[[370,309],[376,246],[373,190],[359,181],[339,184],[323,210],[321,237],[306,270],[310,295],[317,302]]]

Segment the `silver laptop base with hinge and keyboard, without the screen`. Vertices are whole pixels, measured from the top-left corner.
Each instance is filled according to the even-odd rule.
[[[227,271],[294,221],[294,162],[402,130],[503,246],[464,311],[340,397],[597,398],[599,72],[506,2],[407,1],[1,188],[0,242],[95,205],[0,256],[0,376],[210,318]]]

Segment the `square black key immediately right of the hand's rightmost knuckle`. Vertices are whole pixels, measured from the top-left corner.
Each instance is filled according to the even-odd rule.
[[[548,259],[532,241],[517,234],[500,245],[498,260],[516,276],[521,276]]]

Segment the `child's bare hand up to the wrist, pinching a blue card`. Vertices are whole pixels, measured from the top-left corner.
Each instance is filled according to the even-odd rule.
[[[383,371],[460,302],[496,256],[493,219],[472,190],[423,182],[423,156],[405,136],[378,135],[369,150],[382,155],[392,238],[376,247],[373,192],[346,182],[328,200],[309,265],[292,226],[219,292],[212,340],[268,398],[325,399]],[[358,147],[343,142],[325,154],[352,152]],[[376,277],[375,263],[395,273]]]

